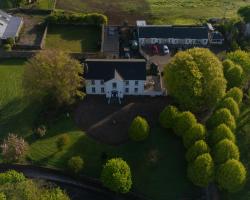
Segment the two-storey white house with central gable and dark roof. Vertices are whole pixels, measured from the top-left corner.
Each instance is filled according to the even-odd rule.
[[[87,94],[119,99],[125,95],[144,95],[143,59],[87,59],[84,68]]]

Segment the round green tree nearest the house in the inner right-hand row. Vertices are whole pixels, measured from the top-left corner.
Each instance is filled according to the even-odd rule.
[[[175,106],[167,106],[160,113],[159,122],[163,128],[173,128],[174,121],[179,111]]]

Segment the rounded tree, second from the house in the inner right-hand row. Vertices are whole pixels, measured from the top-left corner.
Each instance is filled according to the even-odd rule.
[[[197,123],[197,120],[193,113],[186,111],[180,113],[174,123],[174,132],[178,136],[185,134],[193,125]]]

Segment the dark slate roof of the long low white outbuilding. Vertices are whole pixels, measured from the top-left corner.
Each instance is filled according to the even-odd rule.
[[[205,26],[140,26],[139,38],[208,39]]]

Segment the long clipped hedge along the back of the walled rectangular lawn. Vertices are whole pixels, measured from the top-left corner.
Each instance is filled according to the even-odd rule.
[[[48,16],[46,22],[51,24],[102,25],[108,23],[108,18],[99,13],[81,14],[57,11]]]

